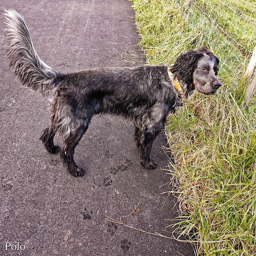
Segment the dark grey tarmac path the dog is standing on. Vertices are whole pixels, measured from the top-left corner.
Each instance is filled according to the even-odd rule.
[[[139,40],[128,0],[1,1],[0,255],[194,255],[189,243],[106,217],[119,220],[140,202],[140,212],[124,223],[171,236],[164,231],[172,224],[167,219],[178,212],[174,196],[161,194],[170,189],[162,170],[168,165],[160,148],[166,145],[163,133],[152,148],[155,170],[140,165],[132,126],[114,116],[95,116],[76,147],[84,176],[71,176],[58,154],[46,152],[39,137],[49,122],[49,104],[39,92],[22,88],[8,69],[2,14],[9,7],[24,16],[40,58],[60,72],[123,66],[118,52],[138,50]],[[6,243],[16,250],[5,250]]]

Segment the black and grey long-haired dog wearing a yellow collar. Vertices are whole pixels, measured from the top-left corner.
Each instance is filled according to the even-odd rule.
[[[132,124],[141,164],[153,169],[152,143],[168,114],[176,112],[194,92],[215,94],[221,86],[219,59],[205,46],[181,54],[172,66],[92,68],[62,74],[40,60],[23,17],[13,9],[6,10],[5,16],[10,68],[23,86],[43,96],[54,92],[50,124],[40,139],[48,152],[60,151],[73,176],[84,173],[73,156],[92,116],[114,114]],[[62,148],[54,145],[56,132],[63,140]]]

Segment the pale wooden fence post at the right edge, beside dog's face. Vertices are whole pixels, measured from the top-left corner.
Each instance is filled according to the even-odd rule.
[[[250,59],[249,65],[246,69],[246,72],[244,74],[244,79],[246,78],[251,78],[252,76],[254,76],[254,78],[252,79],[252,81],[250,82],[247,90],[246,90],[246,96],[244,97],[245,102],[248,104],[252,98],[252,94],[254,93],[254,90],[256,88],[256,76],[254,74],[254,67],[256,64],[256,46],[254,48],[254,51],[252,53],[252,57]]]

